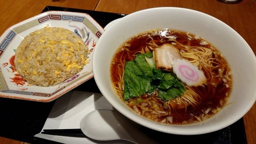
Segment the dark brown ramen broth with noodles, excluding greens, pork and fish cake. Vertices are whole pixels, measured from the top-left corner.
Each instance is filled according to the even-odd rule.
[[[123,99],[124,66],[137,54],[153,52],[163,44],[175,45],[181,57],[204,72],[206,84],[186,86],[178,98],[164,101],[157,92]],[[111,81],[116,93],[138,114],[166,124],[190,124],[203,121],[218,113],[227,103],[232,87],[230,68],[222,54],[205,39],[178,30],[151,30],[126,41],[111,62]]]

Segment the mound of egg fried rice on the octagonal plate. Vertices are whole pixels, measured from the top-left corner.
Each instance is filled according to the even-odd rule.
[[[15,53],[15,68],[30,85],[54,86],[81,71],[89,50],[73,31],[44,27],[26,36]]]

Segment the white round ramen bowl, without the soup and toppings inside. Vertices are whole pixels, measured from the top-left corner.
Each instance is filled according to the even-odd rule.
[[[205,121],[187,125],[166,125],[150,121],[125,105],[110,79],[110,61],[127,39],[152,29],[187,31],[213,44],[226,58],[233,74],[233,89],[228,105]],[[251,47],[222,21],[195,10],[157,7],[126,15],[100,37],[93,53],[95,81],[110,104],[127,118],[150,129],[171,134],[194,135],[223,129],[242,118],[256,100],[256,59]]]

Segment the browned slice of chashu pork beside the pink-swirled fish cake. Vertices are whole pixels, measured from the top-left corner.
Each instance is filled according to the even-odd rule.
[[[163,44],[155,49],[155,63],[157,69],[172,71],[173,61],[182,59],[179,50],[172,44]]]

